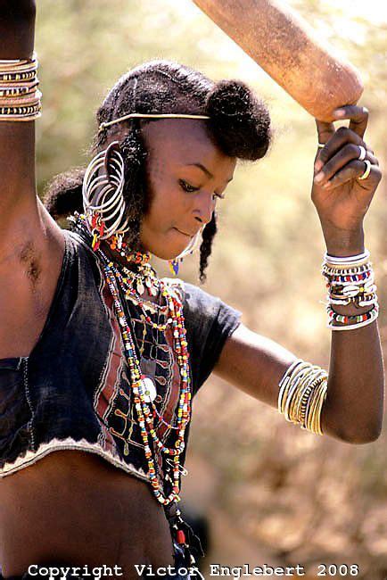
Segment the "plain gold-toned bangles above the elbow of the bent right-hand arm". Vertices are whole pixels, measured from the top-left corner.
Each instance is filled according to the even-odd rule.
[[[328,374],[324,369],[296,360],[279,383],[278,411],[287,421],[323,435],[321,411],[326,398]]]

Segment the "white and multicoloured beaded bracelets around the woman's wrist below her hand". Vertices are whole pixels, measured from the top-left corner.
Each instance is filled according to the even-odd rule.
[[[325,253],[322,274],[328,289],[326,310],[328,328],[353,330],[365,327],[378,317],[378,302],[374,271],[366,250],[356,256],[338,258]],[[369,306],[369,311],[358,315],[343,315],[334,311],[335,305],[353,303],[356,308]]]

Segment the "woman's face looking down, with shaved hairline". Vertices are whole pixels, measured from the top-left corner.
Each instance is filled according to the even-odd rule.
[[[210,221],[236,159],[212,144],[201,120],[148,123],[143,135],[150,204],[140,240],[144,250],[171,260]]]

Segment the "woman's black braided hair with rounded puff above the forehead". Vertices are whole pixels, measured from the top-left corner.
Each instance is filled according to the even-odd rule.
[[[266,105],[239,80],[207,79],[201,72],[176,62],[156,60],[129,70],[111,88],[96,113],[98,127],[103,122],[129,113],[185,113],[207,115],[204,121],[212,142],[229,155],[241,160],[256,161],[270,145],[270,117]],[[123,126],[128,134],[120,142],[125,164],[124,198],[131,228],[129,244],[139,241],[141,220],[147,211],[150,193],[147,186],[146,146],[141,128],[157,120],[131,119],[103,128],[96,133],[92,153],[99,153],[111,137]],[[82,211],[82,182],[85,169],[77,168],[54,178],[46,188],[45,207],[54,219]],[[217,231],[216,215],[202,232],[200,247],[200,278],[211,253]]]

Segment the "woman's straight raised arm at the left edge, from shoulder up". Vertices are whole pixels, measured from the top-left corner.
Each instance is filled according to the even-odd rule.
[[[0,0],[0,61],[31,59],[34,49],[35,0]],[[0,71],[9,66],[0,63]],[[3,70],[3,72],[4,72]],[[17,85],[18,83],[14,83]],[[8,105],[12,95],[5,92],[10,83],[2,75],[1,106]],[[11,101],[12,102],[12,101]],[[0,244],[12,228],[12,222],[23,213],[37,208],[35,187],[35,123],[0,120]],[[30,210],[29,210],[30,208]],[[3,240],[3,241],[2,241]]]

